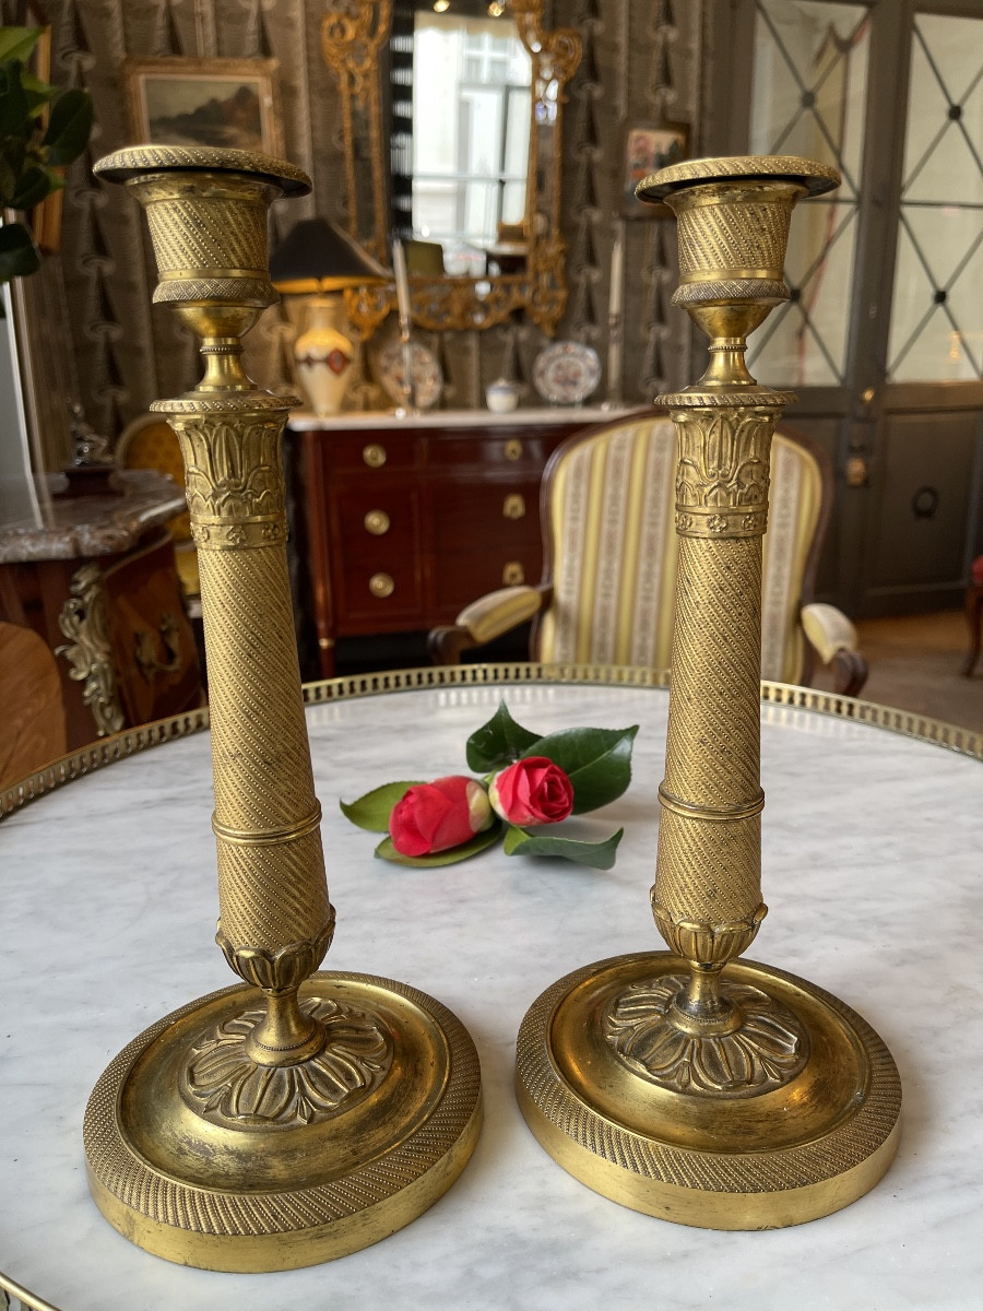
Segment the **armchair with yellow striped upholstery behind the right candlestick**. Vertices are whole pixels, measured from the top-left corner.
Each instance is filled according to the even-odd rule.
[[[553,454],[540,513],[544,576],[537,587],[502,587],[430,633],[439,665],[532,619],[532,659],[548,663],[671,663],[676,572],[675,429],[665,413],[634,414],[574,434]],[[761,676],[811,678],[817,657],[836,691],[856,695],[866,662],[856,632],[834,606],[811,600],[830,518],[826,452],[780,426],[771,465],[764,539]]]

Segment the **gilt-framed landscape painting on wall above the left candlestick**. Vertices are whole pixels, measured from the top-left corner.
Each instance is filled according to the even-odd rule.
[[[277,59],[127,59],[134,144],[283,153]]]

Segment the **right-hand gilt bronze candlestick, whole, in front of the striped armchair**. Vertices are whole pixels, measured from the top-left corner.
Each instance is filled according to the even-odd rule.
[[[519,1032],[519,1100],[545,1150],[596,1192],[706,1228],[775,1228],[862,1196],[898,1142],[900,1083],[828,992],[738,961],[761,902],[761,538],[775,422],[746,340],[789,298],[796,202],[839,174],[810,160],[692,160],[638,194],[679,220],[682,304],[710,364],[662,396],[679,437],[679,565],[651,907],[674,954],[577,970]]]

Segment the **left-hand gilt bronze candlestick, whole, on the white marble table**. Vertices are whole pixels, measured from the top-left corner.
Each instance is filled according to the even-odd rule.
[[[464,1027],[402,983],[313,973],[334,910],[321,851],[287,578],[280,437],[299,404],[258,389],[241,337],[277,299],[271,201],[300,169],[245,151],[144,146],[97,172],[147,211],[160,282],[204,378],[153,409],[181,440],[202,576],[220,919],[244,985],[182,1007],[106,1068],[85,1114],[89,1186],[159,1256],[283,1270],[375,1243],[453,1183],[477,1141]]]

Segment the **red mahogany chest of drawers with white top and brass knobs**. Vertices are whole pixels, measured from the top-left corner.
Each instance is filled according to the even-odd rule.
[[[321,675],[334,674],[338,637],[433,628],[486,591],[539,582],[547,460],[571,433],[616,417],[556,409],[292,418]]]

